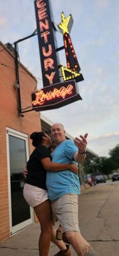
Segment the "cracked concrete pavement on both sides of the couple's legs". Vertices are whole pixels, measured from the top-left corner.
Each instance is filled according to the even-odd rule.
[[[97,256],[119,255],[119,182],[106,182],[84,189],[80,196],[81,234]],[[0,244],[2,256],[38,255],[39,225],[32,224]],[[51,244],[49,256],[58,249]],[[71,248],[72,256],[76,256]]]

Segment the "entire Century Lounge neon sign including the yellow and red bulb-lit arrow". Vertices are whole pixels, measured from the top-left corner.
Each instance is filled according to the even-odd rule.
[[[60,82],[59,68],[55,51],[54,33],[48,0],[35,0],[36,22],[38,28],[39,53],[43,76],[43,88],[32,93],[32,109],[44,111],[55,109],[81,100],[75,80],[83,80],[79,73],[79,65],[70,42],[69,32],[73,24],[71,15],[67,18],[62,13],[59,28],[64,35],[67,67],[61,67],[64,82]],[[80,77],[80,78],[79,78]],[[70,81],[68,81],[70,79]]]

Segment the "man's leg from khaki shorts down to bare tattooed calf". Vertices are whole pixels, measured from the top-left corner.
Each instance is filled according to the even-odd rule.
[[[52,212],[60,221],[62,232],[73,246],[78,256],[95,256],[88,242],[81,236],[78,223],[78,196],[66,194],[52,203]],[[71,230],[71,231],[69,231]]]

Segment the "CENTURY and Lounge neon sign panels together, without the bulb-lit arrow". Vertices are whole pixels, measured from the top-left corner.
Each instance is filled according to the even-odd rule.
[[[34,1],[43,76],[43,88],[32,93],[32,109],[36,111],[60,108],[81,100],[75,78],[60,82],[49,1]]]

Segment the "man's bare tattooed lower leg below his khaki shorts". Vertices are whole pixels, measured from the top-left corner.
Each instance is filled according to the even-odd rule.
[[[78,256],[95,256],[94,249],[81,236],[80,232],[67,231],[65,234]]]

